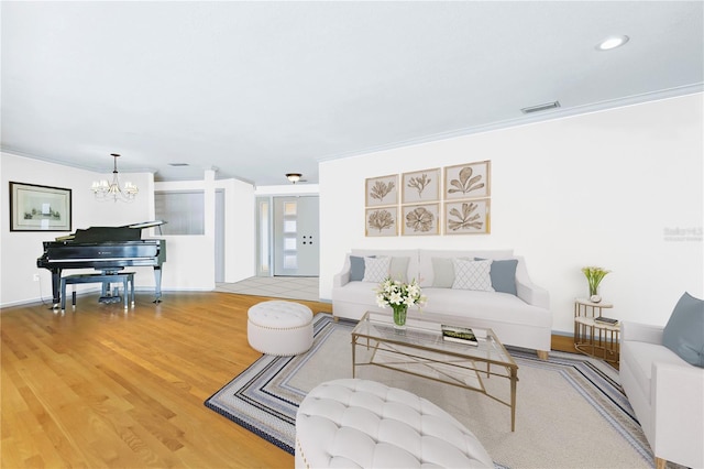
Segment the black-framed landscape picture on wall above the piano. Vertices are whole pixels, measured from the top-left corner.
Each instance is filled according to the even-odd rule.
[[[10,182],[10,231],[70,231],[70,189]]]

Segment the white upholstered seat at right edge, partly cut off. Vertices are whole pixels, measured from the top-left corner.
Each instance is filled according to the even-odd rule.
[[[704,332],[703,332],[704,334]],[[662,345],[663,328],[622,324],[619,374],[656,467],[704,467],[704,369]]]

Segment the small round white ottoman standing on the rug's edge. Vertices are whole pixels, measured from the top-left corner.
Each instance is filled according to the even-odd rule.
[[[250,346],[262,353],[302,353],[312,345],[312,312],[293,302],[256,304],[248,312],[246,338]]]

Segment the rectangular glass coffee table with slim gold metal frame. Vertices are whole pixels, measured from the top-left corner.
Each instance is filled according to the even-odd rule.
[[[365,313],[352,330],[352,377],[358,367],[374,366],[483,393],[510,407],[510,429],[515,432],[518,366],[510,353],[492,329],[472,327],[479,343],[469,345],[444,340],[440,326],[408,319],[406,327],[398,329],[391,314]],[[490,394],[483,382],[490,377],[508,380],[509,401]]]

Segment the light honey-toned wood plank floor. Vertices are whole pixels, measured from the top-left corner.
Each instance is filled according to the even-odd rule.
[[[293,456],[204,406],[258,357],[229,293],[78,298],[0,313],[2,468],[290,468]],[[331,305],[300,302],[314,312]],[[562,345],[562,342],[564,342]],[[571,349],[571,342],[553,341]]]

